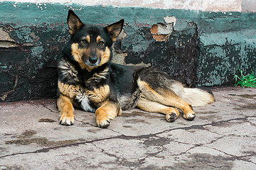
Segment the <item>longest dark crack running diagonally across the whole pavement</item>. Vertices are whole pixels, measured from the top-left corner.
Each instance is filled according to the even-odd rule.
[[[47,148],[38,149],[38,150],[32,151],[32,152],[21,152],[21,153],[6,154],[4,156],[1,156],[0,158],[11,157],[11,156],[20,155],[20,154],[38,154],[38,153],[41,153],[41,152],[49,152],[51,149],[59,149],[59,148],[63,148],[63,147],[73,147],[73,146],[78,146],[78,145],[92,144],[93,142],[99,142],[99,141],[102,141],[102,140],[112,140],[112,139],[131,140],[131,139],[144,139],[144,138],[149,138],[149,137],[157,137],[156,135],[160,135],[162,133],[169,132],[171,130],[197,129],[197,128],[201,128],[201,127],[206,126],[206,125],[220,125],[220,123],[227,123],[227,122],[230,122],[230,121],[233,121],[233,120],[246,120],[247,118],[256,118],[256,115],[245,116],[245,117],[242,117],[242,118],[233,118],[233,119],[230,119],[230,120],[221,120],[219,122],[206,123],[206,124],[203,124],[203,125],[191,125],[189,127],[171,128],[169,130],[164,130],[162,132],[156,132],[154,134],[148,134],[148,135],[127,136],[127,135],[122,134],[122,135],[118,135],[118,136],[115,136],[115,137],[106,137],[106,138],[91,140],[91,141],[86,141],[86,142],[76,142],[76,143],[68,144],[68,145],[60,145],[60,146],[56,146],[56,147],[47,147]],[[115,132],[114,130],[112,130],[112,131]],[[189,145],[191,145],[191,144],[189,144]],[[215,149],[215,148],[212,148],[212,149]],[[223,151],[220,151],[220,152],[223,152]],[[223,153],[225,153],[225,152],[223,152]],[[234,156],[232,154],[230,154],[230,156],[237,157],[237,156]]]

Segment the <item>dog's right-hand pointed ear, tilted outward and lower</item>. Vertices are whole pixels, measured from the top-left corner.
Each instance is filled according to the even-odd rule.
[[[110,35],[110,38],[112,38],[113,42],[117,40],[117,36],[119,33],[121,33],[123,26],[124,19],[118,21],[117,23],[112,23],[110,26],[106,27],[107,33]]]

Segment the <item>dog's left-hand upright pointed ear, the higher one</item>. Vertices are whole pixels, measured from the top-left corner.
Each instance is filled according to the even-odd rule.
[[[68,28],[70,35],[76,33],[81,28],[82,24],[80,18],[70,9],[68,11]]]

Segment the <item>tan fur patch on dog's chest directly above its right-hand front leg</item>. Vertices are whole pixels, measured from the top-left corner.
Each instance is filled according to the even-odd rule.
[[[104,102],[107,98],[107,96],[110,94],[110,86],[100,86],[98,89],[93,89],[93,91],[86,91],[86,95],[88,96],[90,101],[94,101],[97,103],[97,106],[99,107],[102,105],[102,102]]]

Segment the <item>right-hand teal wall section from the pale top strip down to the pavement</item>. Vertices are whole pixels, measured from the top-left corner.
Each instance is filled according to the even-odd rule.
[[[238,66],[247,74],[255,72],[255,13],[204,13],[201,17],[198,84],[232,85]]]

